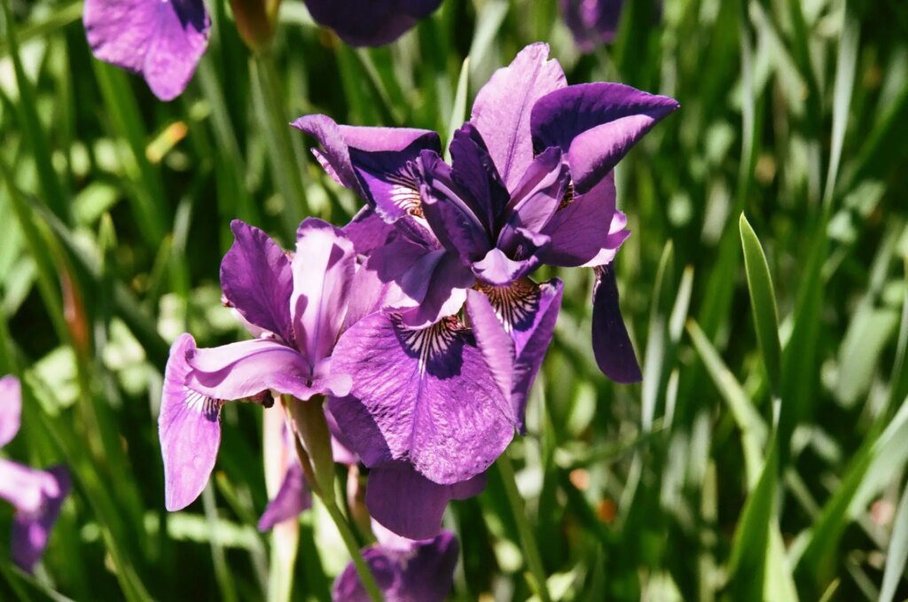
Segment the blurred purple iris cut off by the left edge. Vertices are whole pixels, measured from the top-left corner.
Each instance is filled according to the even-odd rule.
[[[19,381],[5,376],[0,379],[0,447],[19,431],[21,414]],[[0,498],[15,507],[12,552],[17,567],[27,572],[34,570],[70,489],[69,472],[63,466],[35,470],[0,459]]]

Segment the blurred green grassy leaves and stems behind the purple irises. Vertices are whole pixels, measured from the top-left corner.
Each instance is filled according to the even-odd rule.
[[[209,51],[169,104],[94,61],[81,3],[2,2],[0,374],[26,385],[2,453],[64,462],[74,494],[35,577],[9,562],[0,505],[0,599],[267,595],[260,408],[224,408],[210,488],[163,510],[168,345],[243,336],[219,301],[232,218],[289,247],[306,215],[342,223],[359,207],[287,123],[327,113],[445,140],[463,100],[469,113],[540,40],[569,83],[681,104],[617,168],[633,232],[617,274],[644,381],[598,373],[592,273],[559,271],[556,339],[512,446],[552,596],[908,596],[903,0],[628,2],[591,55],[554,0],[445,0],[369,50],[285,0],[259,57],[212,0]],[[454,599],[532,595],[497,470],[446,524],[462,548]],[[323,510],[305,513],[293,598],[328,599],[347,560]]]

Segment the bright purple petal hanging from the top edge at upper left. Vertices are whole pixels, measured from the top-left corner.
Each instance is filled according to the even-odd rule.
[[[183,94],[212,26],[202,0],[86,0],[83,22],[96,58],[143,74],[163,101]]]

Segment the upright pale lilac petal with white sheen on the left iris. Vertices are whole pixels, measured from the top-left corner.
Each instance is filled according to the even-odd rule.
[[[308,218],[297,231],[291,314],[296,344],[313,369],[331,355],[341,331],[356,252],[340,228]],[[344,393],[340,393],[343,395]]]

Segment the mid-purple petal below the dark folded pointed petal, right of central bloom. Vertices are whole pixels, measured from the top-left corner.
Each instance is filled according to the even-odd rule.
[[[584,194],[569,191],[562,204],[542,229],[551,237],[542,262],[568,268],[610,262],[629,234],[624,214],[615,209],[615,173]]]

